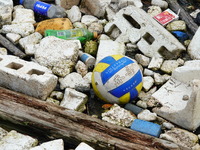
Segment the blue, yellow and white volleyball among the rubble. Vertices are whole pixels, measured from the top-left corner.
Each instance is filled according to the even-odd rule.
[[[126,104],[141,91],[142,72],[137,62],[127,56],[107,56],[92,72],[92,87],[105,102]]]

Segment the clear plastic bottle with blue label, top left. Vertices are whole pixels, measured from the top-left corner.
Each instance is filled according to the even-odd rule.
[[[49,18],[62,18],[66,16],[65,9],[53,4],[48,4],[38,0],[20,0],[25,8],[32,9],[35,13]]]

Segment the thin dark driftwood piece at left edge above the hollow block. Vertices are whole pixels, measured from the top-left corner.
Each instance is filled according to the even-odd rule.
[[[18,49],[12,42],[0,34],[0,44],[12,52],[15,56],[24,58],[26,56],[20,49]]]

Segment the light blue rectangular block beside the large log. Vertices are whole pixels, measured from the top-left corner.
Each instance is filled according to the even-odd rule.
[[[133,121],[133,123],[131,124],[131,129],[155,137],[159,137],[161,134],[160,125],[140,119],[135,119]]]

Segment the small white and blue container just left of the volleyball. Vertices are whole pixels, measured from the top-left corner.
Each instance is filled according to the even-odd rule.
[[[94,67],[96,59],[93,56],[82,51],[79,51],[78,55],[89,69]]]

